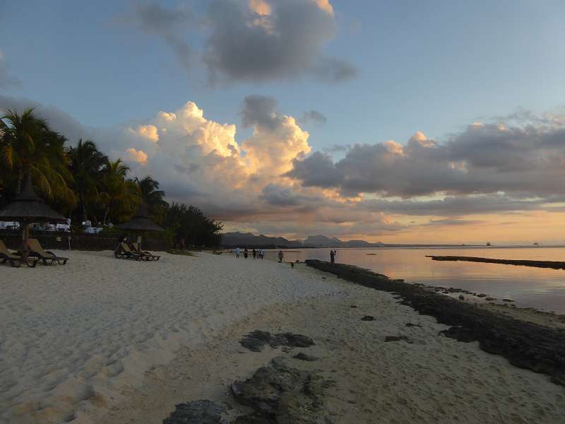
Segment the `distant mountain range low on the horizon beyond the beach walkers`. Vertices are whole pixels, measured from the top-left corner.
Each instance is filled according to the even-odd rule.
[[[304,240],[287,240],[285,237],[254,235],[251,232],[225,232],[222,234],[222,247],[263,247],[265,249],[306,249],[324,247],[459,247],[460,245],[399,245],[383,242],[366,242],[365,240],[340,240],[326,235],[309,235]]]

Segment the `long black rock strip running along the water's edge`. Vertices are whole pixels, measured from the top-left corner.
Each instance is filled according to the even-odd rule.
[[[478,341],[480,348],[501,355],[517,367],[549,375],[565,386],[565,330],[550,328],[460,302],[420,285],[393,280],[346,264],[307,260],[307,265],[365,287],[395,293],[403,305],[451,326],[444,335],[458,341]]]

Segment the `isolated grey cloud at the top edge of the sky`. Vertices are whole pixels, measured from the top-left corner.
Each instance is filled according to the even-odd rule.
[[[121,20],[161,37],[186,67],[201,57],[212,82],[304,75],[343,81],[357,74],[349,62],[323,54],[337,30],[328,0],[212,0],[204,16],[148,3]],[[188,42],[202,37],[201,45]]]

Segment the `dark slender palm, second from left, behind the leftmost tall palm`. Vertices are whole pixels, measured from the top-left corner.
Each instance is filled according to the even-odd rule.
[[[107,157],[98,151],[93,141],[80,139],[76,147],[69,148],[69,158],[74,176],[73,187],[78,194],[78,204],[84,221],[88,219],[87,202],[97,197],[97,182]]]

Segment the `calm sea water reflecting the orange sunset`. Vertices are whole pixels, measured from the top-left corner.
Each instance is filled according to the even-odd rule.
[[[565,270],[474,262],[432,261],[426,255],[565,261],[565,247],[337,249],[335,261],[361,266],[407,282],[457,287],[516,300],[518,307],[565,313]],[[278,251],[277,251],[278,252]],[[269,251],[266,259],[275,259]],[[330,249],[290,249],[285,261],[330,260]],[[370,254],[370,255],[369,255]]]

